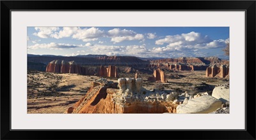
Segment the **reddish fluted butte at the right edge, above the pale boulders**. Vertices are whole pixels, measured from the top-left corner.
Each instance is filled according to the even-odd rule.
[[[229,76],[229,67],[227,65],[209,66],[205,71],[205,77],[227,78]]]

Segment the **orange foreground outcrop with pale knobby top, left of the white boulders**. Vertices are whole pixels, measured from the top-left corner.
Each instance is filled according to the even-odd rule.
[[[104,80],[101,80],[104,81]],[[111,81],[93,82],[88,93],[67,113],[175,113],[178,104],[172,104],[170,95],[150,92],[142,87],[140,78],[119,78],[118,87]]]

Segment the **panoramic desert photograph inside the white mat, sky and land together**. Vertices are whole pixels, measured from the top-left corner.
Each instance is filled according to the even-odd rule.
[[[28,27],[27,113],[229,113],[229,27]]]

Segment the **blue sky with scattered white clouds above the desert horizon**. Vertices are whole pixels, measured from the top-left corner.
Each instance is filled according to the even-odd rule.
[[[229,27],[28,27],[27,41],[36,55],[228,59]]]

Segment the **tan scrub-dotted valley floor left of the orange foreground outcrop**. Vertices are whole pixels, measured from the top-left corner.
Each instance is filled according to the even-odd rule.
[[[28,73],[28,113],[64,113],[83,97],[97,76]]]

